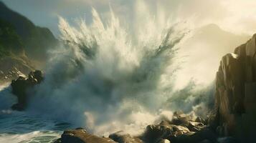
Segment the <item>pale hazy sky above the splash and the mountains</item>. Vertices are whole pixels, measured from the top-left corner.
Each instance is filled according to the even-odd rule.
[[[57,34],[58,16],[69,21],[85,17],[91,21],[92,6],[102,15],[109,7],[129,21],[134,16],[134,4],[139,0],[1,0],[24,14],[39,26],[47,26]],[[190,19],[192,24],[214,23],[237,33],[255,33],[255,0],[145,0],[152,14],[164,11],[175,19]],[[192,19],[192,20],[191,20]]]

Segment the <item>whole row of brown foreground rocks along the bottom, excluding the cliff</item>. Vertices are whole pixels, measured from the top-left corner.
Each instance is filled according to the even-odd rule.
[[[97,139],[102,139],[102,142],[108,140],[108,142],[118,143],[215,143],[217,142],[217,135],[212,129],[204,125],[203,122],[199,122],[199,119],[191,119],[187,114],[175,112],[172,121],[148,125],[145,132],[138,137],[125,134],[125,132],[116,132],[110,134],[108,138],[100,138],[79,128],[65,131],[62,137],[57,139],[56,143],[96,143]]]

